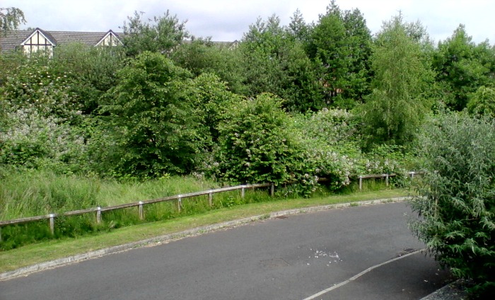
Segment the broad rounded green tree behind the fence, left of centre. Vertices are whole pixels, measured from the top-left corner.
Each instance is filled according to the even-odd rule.
[[[144,52],[117,76],[114,102],[106,108],[117,141],[116,175],[161,177],[197,168],[209,134],[190,73],[162,54]]]

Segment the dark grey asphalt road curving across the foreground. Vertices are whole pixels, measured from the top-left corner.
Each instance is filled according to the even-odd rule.
[[[421,299],[448,275],[406,255],[424,247],[409,214],[390,203],[267,219],[6,280],[0,299]]]

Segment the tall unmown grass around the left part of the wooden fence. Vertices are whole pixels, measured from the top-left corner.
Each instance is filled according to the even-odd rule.
[[[156,199],[187,192],[219,188],[219,183],[192,177],[170,177],[146,182],[103,180],[78,175],[56,175],[50,171],[3,172],[0,178],[0,220],[62,213],[91,207]],[[250,202],[268,201],[267,190],[240,191],[214,194],[213,205],[207,196],[182,200],[180,212],[177,202],[161,202],[144,206],[144,219],[139,219],[136,207],[102,213],[97,224],[95,214],[57,217],[54,235],[47,221],[4,226],[1,228],[0,249],[8,250],[48,238],[81,236],[98,231],[109,231],[122,226],[146,221],[173,219],[183,215],[200,214],[220,207]]]

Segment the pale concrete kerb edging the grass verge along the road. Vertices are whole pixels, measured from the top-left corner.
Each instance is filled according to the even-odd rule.
[[[198,236],[199,234],[207,233],[207,232],[211,232],[211,231],[216,231],[219,229],[233,228],[235,226],[250,224],[253,221],[260,221],[263,219],[274,219],[276,217],[293,215],[293,214],[302,214],[302,213],[307,213],[307,212],[320,212],[320,211],[324,211],[324,210],[328,210],[328,209],[337,209],[337,208],[343,208],[343,207],[362,206],[362,205],[371,205],[371,204],[383,204],[383,203],[390,203],[390,202],[402,202],[404,200],[407,200],[408,198],[409,197],[396,197],[396,198],[380,199],[380,200],[366,200],[366,201],[348,202],[348,203],[341,203],[341,204],[329,204],[329,205],[322,205],[322,206],[318,206],[318,207],[304,207],[304,208],[298,208],[298,209],[284,210],[284,211],[280,211],[280,212],[272,212],[271,214],[269,214],[269,217],[267,214],[264,214],[264,215],[258,215],[258,216],[254,216],[254,217],[248,217],[248,218],[243,218],[243,219],[238,219],[238,220],[233,220],[233,221],[226,221],[226,222],[222,222],[219,224],[197,227],[195,229],[189,229],[189,230],[181,231],[178,233],[171,233],[171,234],[167,234],[164,236],[156,236],[154,238],[147,238],[145,240],[136,241],[133,243],[126,243],[126,244],[120,245],[120,246],[113,246],[110,248],[95,250],[95,251],[91,251],[88,253],[72,255],[72,256],[69,256],[67,258],[59,258],[57,260],[51,260],[49,262],[42,262],[42,263],[38,263],[35,265],[30,265],[28,267],[21,267],[17,270],[1,273],[0,274],[0,280],[6,280],[6,279],[12,279],[15,277],[25,276],[25,275],[29,275],[29,274],[34,273],[34,272],[40,272],[42,270],[47,270],[47,269],[51,269],[54,267],[61,267],[63,265],[69,265],[71,263],[81,262],[83,260],[89,260],[92,258],[100,258],[103,255],[109,255],[112,253],[120,253],[120,252],[130,250],[133,248],[160,245],[161,243],[168,243],[170,241],[176,241],[176,240],[179,240],[181,238],[187,238],[190,236]]]

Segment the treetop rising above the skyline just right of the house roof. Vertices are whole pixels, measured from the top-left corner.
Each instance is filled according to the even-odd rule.
[[[143,13],[136,11],[133,17],[127,17],[127,22],[122,26],[122,42],[129,56],[134,57],[145,51],[170,54],[177,45],[190,37],[185,29],[187,21],[180,22],[169,11],[163,16],[148,19],[148,22],[143,21],[142,16]]]

